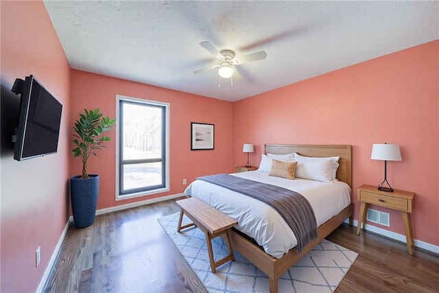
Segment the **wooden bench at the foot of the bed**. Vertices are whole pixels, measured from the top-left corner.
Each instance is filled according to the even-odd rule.
[[[215,274],[216,268],[221,266],[227,261],[234,261],[235,255],[233,254],[232,244],[230,242],[230,236],[228,229],[237,225],[238,222],[233,220],[228,215],[218,211],[198,198],[187,198],[185,200],[177,200],[176,203],[180,206],[180,218],[178,219],[177,231],[180,232],[184,228],[190,226],[197,226],[206,235],[207,250],[209,251],[209,261],[211,262],[211,270]],[[182,226],[183,214],[187,215],[187,218],[191,219],[193,223]],[[215,261],[213,258],[212,242],[213,238],[220,235],[226,235],[226,242],[228,246],[229,254],[219,261]]]

